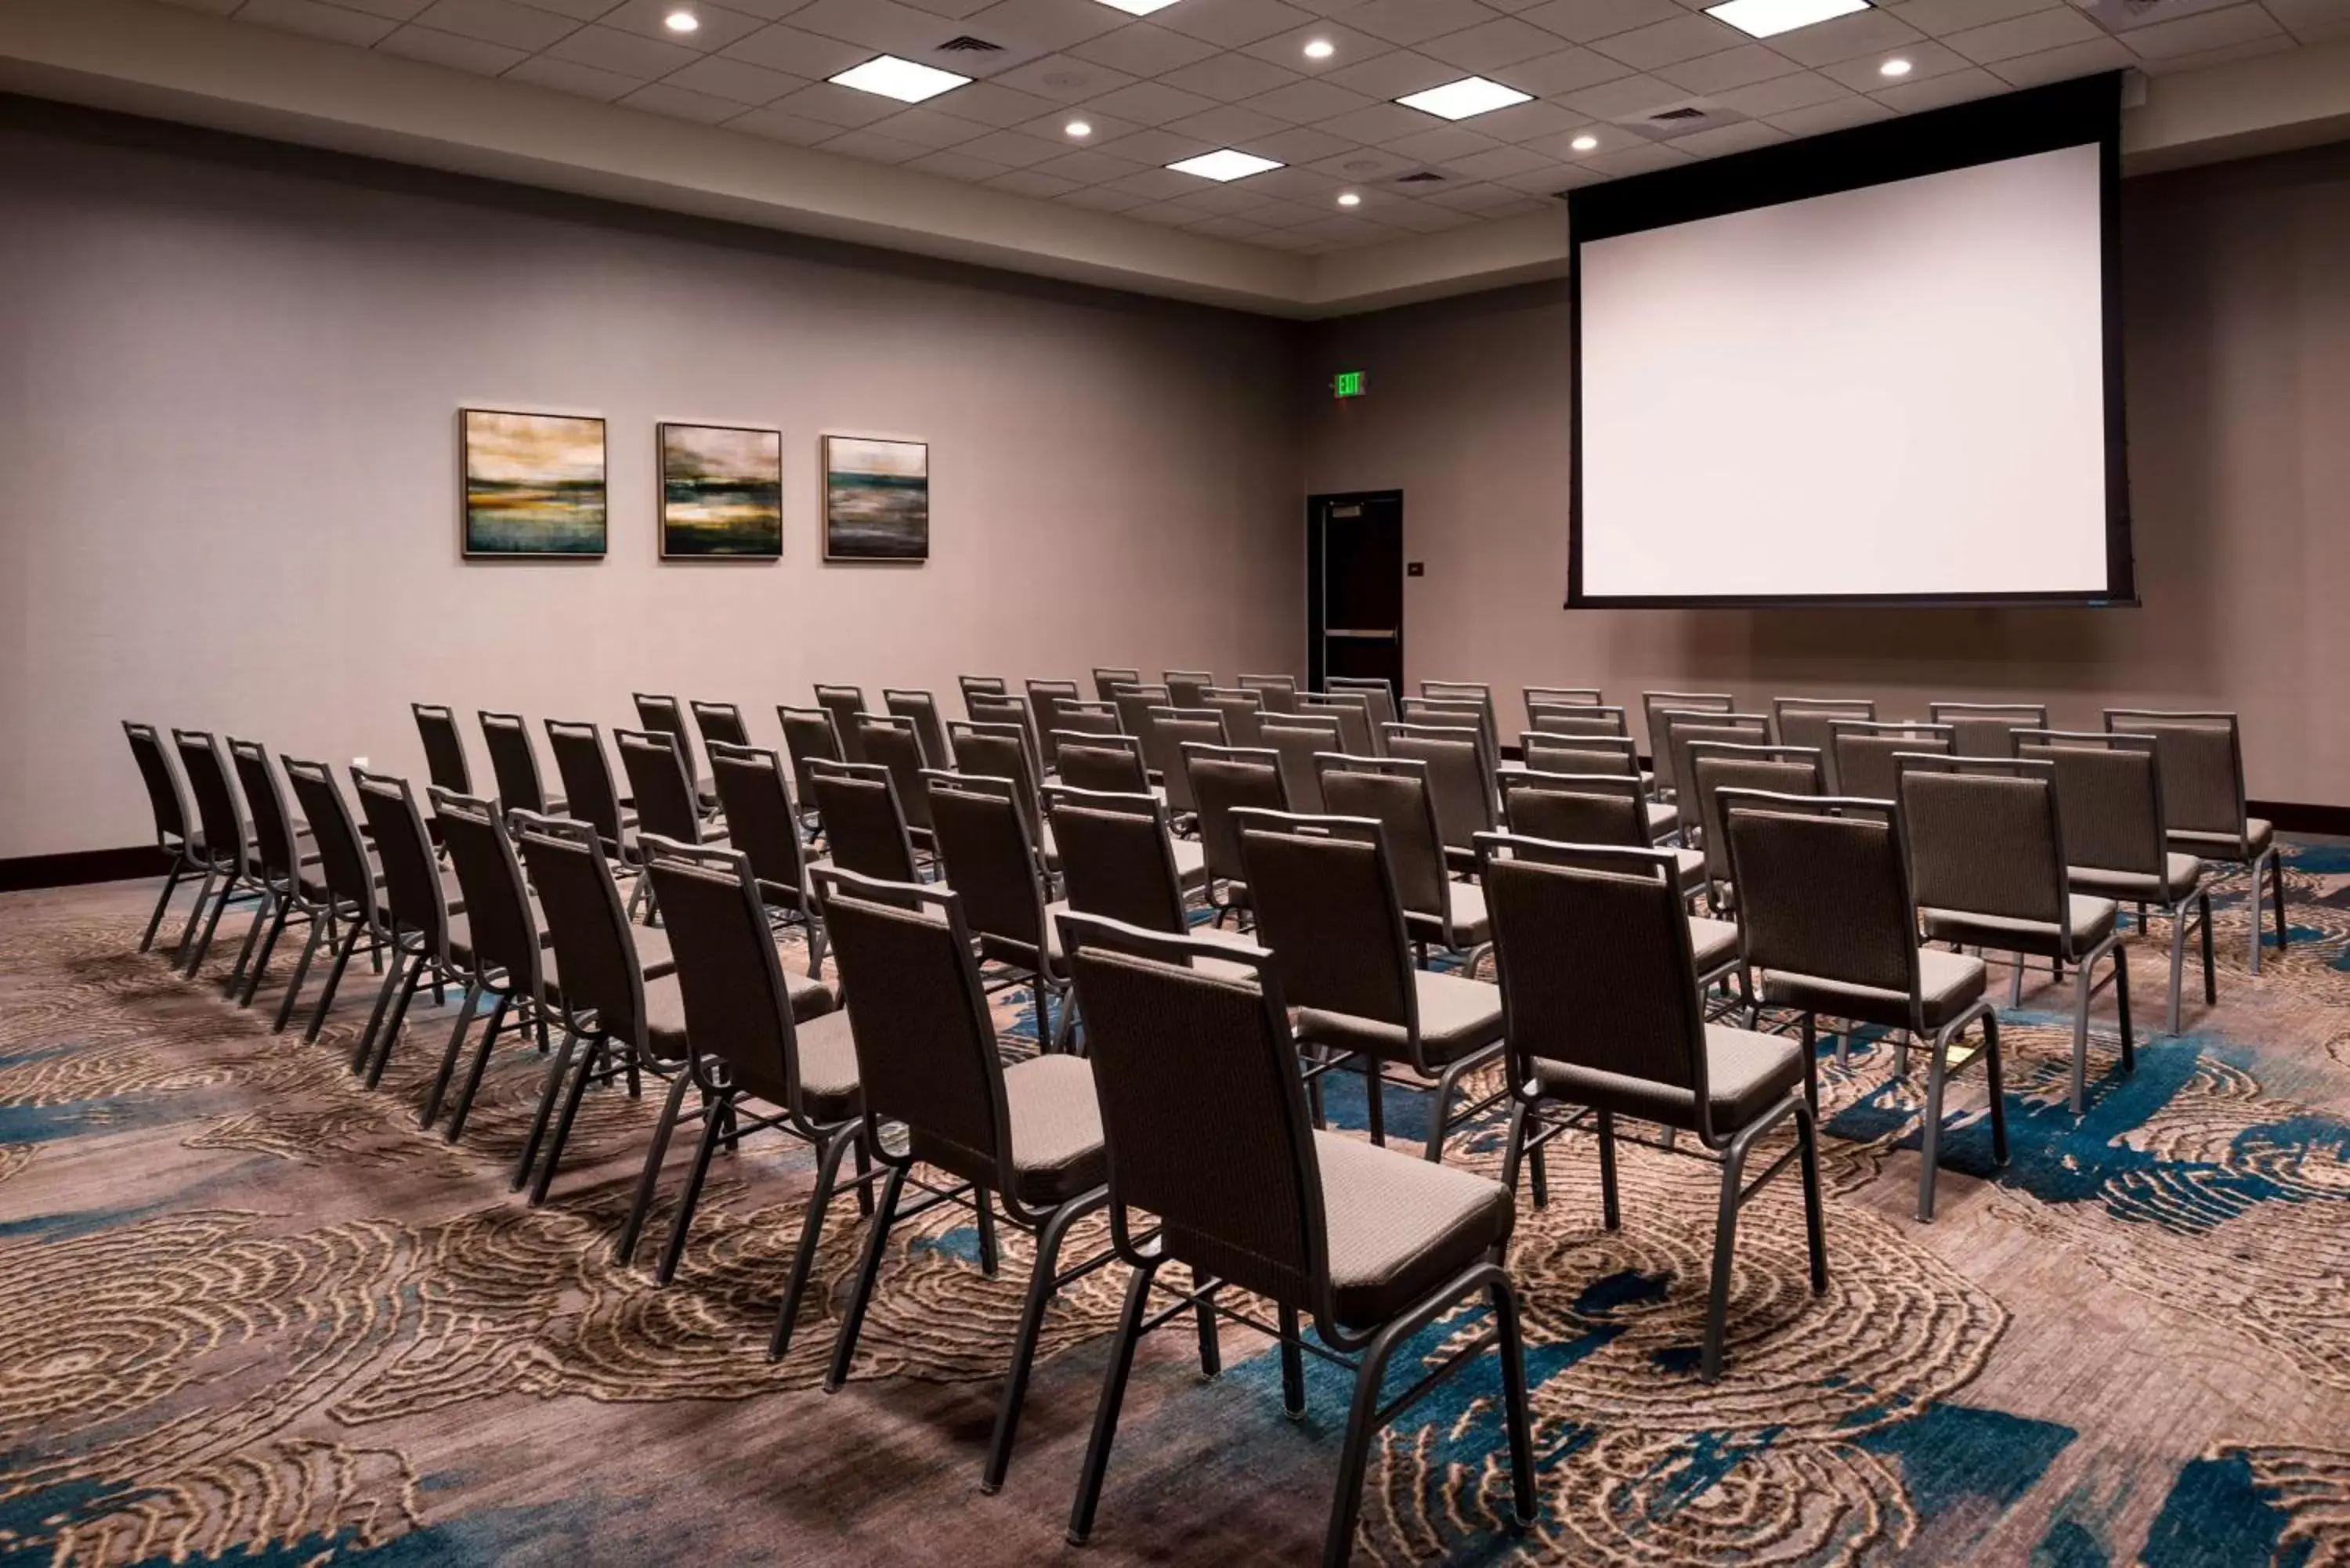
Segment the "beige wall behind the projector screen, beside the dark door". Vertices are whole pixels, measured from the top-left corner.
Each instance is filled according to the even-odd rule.
[[[1565,284],[1325,322],[1309,491],[1405,491],[1410,679],[2235,708],[2256,799],[2350,804],[2350,148],[2124,183],[2146,609],[1577,611]],[[1330,402],[1328,374],[1370,395]],[[1701,395],[1694,393],[1692,395]]]

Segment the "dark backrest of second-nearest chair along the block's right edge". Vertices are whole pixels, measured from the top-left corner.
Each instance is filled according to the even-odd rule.
[[[1706,1013],[1673,856],[1504,835],[1478,849],[1511,1081],[1551,1060],[1664,1084],[1694,1095],[1711,1143]]]

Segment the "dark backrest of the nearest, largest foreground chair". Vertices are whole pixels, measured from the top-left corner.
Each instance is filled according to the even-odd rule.
[[[1201,943],[1074,917],[1072,973],[1109,1150],[1109,1201],[1161,1225],[1166,1253],[1198,1274],[1290,1307],[1325,1295],[1321,1168],[1297,1046],[1271,957],[1255,980],[1203,976]],[[1152,957],[1137,957],[1144,947]],[[1196,1117],[1196,1119],[1194,1119]],[[1210,1131],[1201,1131],[1210,1128]]]

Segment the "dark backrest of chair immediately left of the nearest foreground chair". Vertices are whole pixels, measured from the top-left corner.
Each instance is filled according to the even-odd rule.
[[[1003,1063],[956,893],[808,872],[832,933],[865,1121],[900,1121],[914,1159],[964,1180],[1010,1185]]]

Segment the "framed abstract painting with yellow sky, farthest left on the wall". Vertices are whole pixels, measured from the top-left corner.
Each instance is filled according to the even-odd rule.
[[[531,421],[543,428],[531,430],[519,423],[501,428],[489,421]],[[592,463],[585,456],[588,430],[564,430],[566,425],[595,428]],[[463,559],[599,562],[611,555],[611,433],[602,414],[465,404],[456,411],[456,437]],[[529,473],[533,463],[538,473]],[[498,517],[501,510],[540,515]],[[566,510],[578,515],[564,517]],[[592,543],[562,548],[491,543],[498,534],[519,536],[526,527],[578,534]]]

